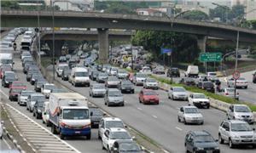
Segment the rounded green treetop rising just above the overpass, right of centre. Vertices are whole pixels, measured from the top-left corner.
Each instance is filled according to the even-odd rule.
[[[209,16],[200,11],[200,10],[192,10],[189,12],[186,12],[182,15],[183,19],[187,19],[187,20],[208,20]]]

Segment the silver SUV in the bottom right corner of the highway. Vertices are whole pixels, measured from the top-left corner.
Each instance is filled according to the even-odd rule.
[[[218,127],[219,144],[228,142],[230,148],[236,145],[253,145],[256,147],[256,134],[247,122],[237,120],[224,120]]]

